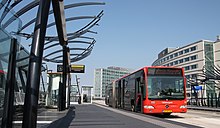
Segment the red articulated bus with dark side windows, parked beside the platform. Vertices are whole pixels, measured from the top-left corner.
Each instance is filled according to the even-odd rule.
[[[106,104],[146,114],[187,112],[183,68],[151,66],[124,76],[106,87]]]

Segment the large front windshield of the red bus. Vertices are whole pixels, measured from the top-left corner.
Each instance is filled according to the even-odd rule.
[[[184,99],[184,78],[181,76],[148,76],[148,99]]]

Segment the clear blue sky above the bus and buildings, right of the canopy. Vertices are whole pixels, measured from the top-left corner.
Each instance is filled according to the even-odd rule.
[[[149,66],[166,47],[182,47],[220,34],[219,0],[104,0],[92,54],[81,85],[93,85],[94,69]]]

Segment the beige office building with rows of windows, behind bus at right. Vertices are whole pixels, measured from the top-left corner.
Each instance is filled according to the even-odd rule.
[[[199,96],[206,97],[207,94],[218,93],[218,85],[213,78],[218,75],[216,67],[220,66],[220,41],[200,40],[183,47],[166,48],[158,54],[158,58],[152,63],[152,66],[174,66],[183,67],[187,78],[187,96],[191,97],[192,84],[201,86]]]

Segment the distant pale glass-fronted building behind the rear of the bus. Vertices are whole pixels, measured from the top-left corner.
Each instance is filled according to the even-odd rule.
[[[121,67],[107,67],[95,69],[94,98],[105,97],[105,87],[114,80],[131,73],[131,69]]]

